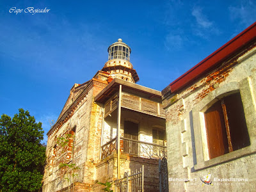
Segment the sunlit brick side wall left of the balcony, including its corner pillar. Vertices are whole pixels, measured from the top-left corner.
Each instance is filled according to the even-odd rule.
[[[51,132],[47,141],[47,165],[44,173],[43,191],[60,191],[68,189],[73,180],[77,186],[74,190],[91,191],[95,180],[95,162],[99,160],[100,137],[102,127],[102,111],[100,106],[93,102],[97,95],[107,84],[108,74],[98,72],[89,83],[88,93],[70,115]],[[83,86],[83,85],[82,85]],[[79,99],[79,98],[78,98]],[[76,102],[74,100],[73,102]],[[69,110],[67,108],[67,110]],[[65,115],[65,113],[63,113]],[[72,138],[67,147],[57,145],[58,138],[70,133],[76,127],[74,137],[74,155],[72,155]],[[76,178],[67,176],[60,163],[76,164]],[[70,177],[67,182],[65,177]]]

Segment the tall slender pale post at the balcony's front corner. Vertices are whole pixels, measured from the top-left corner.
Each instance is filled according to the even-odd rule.
[[[119,85],[118,95],[118,116],[117,116],[117,179],[120,179],[120,127],[121,127],[121,99],[122,99],[122,84]]]

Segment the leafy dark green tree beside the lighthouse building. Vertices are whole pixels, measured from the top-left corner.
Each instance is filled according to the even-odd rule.
[[[0,189],[38,191],[42,186],[45,147],[44,131],[28,111],[19,109],[13,118],[0,119]],[[1,190],[0,190],[1,191]]]

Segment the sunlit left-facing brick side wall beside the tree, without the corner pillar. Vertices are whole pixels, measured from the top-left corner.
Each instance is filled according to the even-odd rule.
[[[43,191],[58,191],[65,188],[68,183],[63,178],[63,170],[60,169],[60,163],[72,163],[79,166],[77,174],[79,177],[76,180],[83,181],[81,175],[84,172],[84,163],[86,162],[86,151],[88,148],[88,131],[90,122],[90,107],[92,105],[93,90],[90,91],[84,99],[83,104],[74,112],[74,115],[63,124],[55,134],[51,134],[47,141],[47,165],[44,174]],[[74,157],[70,156],[71,148],[62,148],[57,145],[57,138],[65,136],[65,134],[76,127],[76,136],[74,138]]]

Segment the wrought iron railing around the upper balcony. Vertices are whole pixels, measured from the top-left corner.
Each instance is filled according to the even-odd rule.
[[[101,158],[104,159],[105,157],[113,154],[115,150],[116,138],[102,145]],[[163,157],[166,157],[167,152],[166,146],[128,138],[120,138],[120,150],[123,153],[150,159],[162,159]]]

